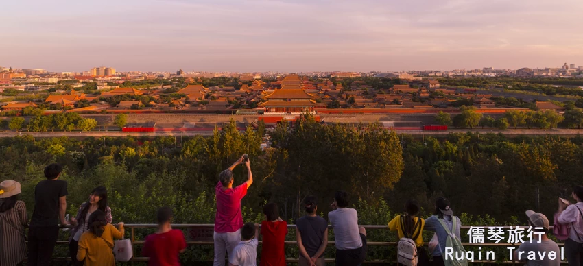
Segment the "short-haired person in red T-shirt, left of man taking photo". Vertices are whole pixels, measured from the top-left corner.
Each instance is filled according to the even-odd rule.
[[[172,209],[162,207],[156,213],[158,232],[146,237],[142,256],[150,258],[150,266],[180,266],[178,254],[185,252],[187,243],[181,230],[172,229]]]

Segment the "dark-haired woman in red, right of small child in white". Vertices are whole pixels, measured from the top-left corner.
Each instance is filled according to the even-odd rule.
[[[279,217],[277,204],[263,206],[265,221],[261,222],[261,263],[259,266],[285,266],[285,235],[287,223]]]

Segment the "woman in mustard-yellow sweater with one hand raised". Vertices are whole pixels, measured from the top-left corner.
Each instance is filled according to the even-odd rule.
[[[85,266],[115,266],[113,256],[113,239],[123,238],[123,223],[118,223],[119,230],[106,221],[102,210],[95,210],[88,220],[89,230],[79,239],[77,260],[85,260]]]

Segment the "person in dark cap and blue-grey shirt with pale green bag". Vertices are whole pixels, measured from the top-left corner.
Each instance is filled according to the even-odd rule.
[[[460,228],[462,227],[462,222],[460,218],[453,216],[453,210],[449,207],[449,200],[444,197],[438,197],[436,199],[436,210],[433,216],[425,219],[425,230],[436,232],[435,239],[436,248],[431,252],[433,256],[434,266],[464,266],[468,265],[466,259],[461,261],[451,260],[445,258],[445,248],[451,247],[453,249],[453,254],[460,254],[460,252],[466,253],[464,247],[462,246],[462,237],[460,236]],[[431,240],[434,241],[433,239]],[[429,243],[431,247],[432,243]],[[465,258],[465,256],[464,256]]]

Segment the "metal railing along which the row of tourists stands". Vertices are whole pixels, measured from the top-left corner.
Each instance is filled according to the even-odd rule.
[[[261,226],[261,225],[260,225]],[[60,226],[60,228],[72,228],[73,226]],[[126,235],[129,231],[130,233],[130,241],[132,243],[132,249],[134,250],[134,254],[132,255],[132,259],[130,260],[131,265],[134,265],[134,262],[141,262],[141,261],[148,261],[147,257],[136,256],[136,246],[143,245],[145,241],[143,240],[136,240],[136,229],[138,228],[158,228],[157,224],[147,224],[147,223],[126,223],[123,225],[124,229],[126,230]],[[172,228],[181,228],[181,229],[210,229],[213,230],[215,227],[214,224],[193,224],[193,223],[178,223],[173,224]],[[377,225],[361,225],[360,227],[364,227],[366,230],[388,230],[388,226],[377,226]],[[478,226],[473,226],[478,227]],[[481,226],[484,228],[488,227],[497,227],[497,228],[504,228],[510,229],[511,226]],[[288,224],[287,228],[296,229],[295,224]],[[328,228],[332,228],[331,225]],[[469,230],[471,226],[461,226],[461,230]],[[527,229],[529,226],[512,226],[512,228],[523,228]],[[129,230],[128,230],[129,229]],[[553,232],[553,227],[549,228],[549,234]],[[367,232],[368,234],[368,232]],[[263,241],[259,241],[259,244],[263,243]],[[384,241],[367,241],[367,246],[385,246],[385,247],[396,247],[397,242],[384,242]],[[559,247],[563,247],[564,243],[557,243]],[[69,245],[69,241],[57,241],[57,245]],[[214,241],[187,241],[187,245],[214,245]],[[285,245],[297,245],[297,241],[285,241]],[[328,241],[328,245],[335,245],[334,241]],[[423,244],[427,247],[428,243],[425,242]],[[462,243],[464,247],[519,247],[518,243]],[[559,254],[558,254],[559,255]],[[298,257],[300,255],[298,254]],[[71,261],[70,257],[56,257],[53,258],[54,261]],[[298,258],[286,258],[285,261],[287,263],[298,263]],[[334,258],[326,258],[326,263],[334,263]],[[387,261],[384,259],[373,259],[373,260],[366,260],[365,263],[396,263],[396,261]],[[484,261],[484,260],[475,260],[473,263],[495,263],[495,264],[512,264],[519,263],[518,261]],[[561,264],[567,264],[567,261],[561,261]]]

